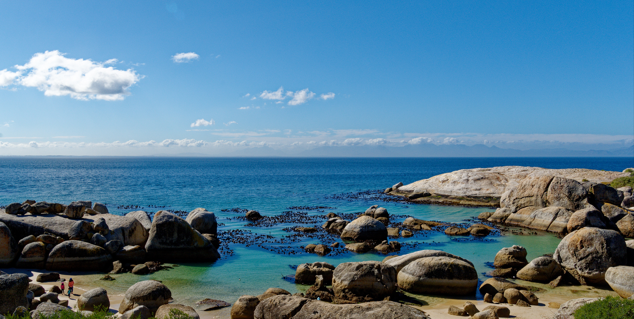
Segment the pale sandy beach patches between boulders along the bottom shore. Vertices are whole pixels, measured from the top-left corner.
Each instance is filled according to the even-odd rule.
[[[34,284],[39,284],[48,291],[50,287],[53,285],[58,285],[59,282],[36,282],[37,275],[42,273],[42,270],[34,270],[34,269],[16,269],[10,268],[3,270],[6,273],[26,273],[29,275],[29,278],[33,280]],[[68,307],[76,310],[77,308],[77,298],[81,296],[82,293],[89,291],[90,289],[96,288],[94,284],[86,284],[87,282],[93,282],[93,280],[88,280],[88,276],[94,276],[94,272],[59,272],[60,278],[73,278],[75,281],[74,294],[72,296],[60,295],[60,300],[68,300]],[[160,275],[160,272],[159,272]],[[86,280],[84,280],[86,278]],[[536,284],[533,282],[523,282],[522,280],[515,280],[518,284],[524,285],[533,285],[535,287],[547,287],[545,284]],[[605,289],[602,289],[605,288]],[[264,291],[262,291],[264,292]],[[260,292],[260,293],[262,293]],[[124,294],[116,293],[111,294],[108,292],[108,297],[110,298],[110,312],[117,313],[119,309],[119,304],[123,299]],[[514,304],[497,304],[499,306],[506,306],[510,309],[511,317],[517,319],[533,319],[533,318],[552,318],[553,314],[556,311],[556,308],[550,308],[549,304],[561,304],[569,301],[570,299],[580,298],[580,297],[605,297],[605,296],[618,296],[616,292],[609,289],[609,287],[589,287],[589,286],[563,286],[557,287],[555,289],[547,289],[545,292],[537,292],[536,296],[540,299],[540,304],[538,306],[531,306],[529,308],[520,307]],[[179,296],[172,296],[174,299],[170,303],[179,303]],[[463,304],[467,301],[474,303],[475,306],[479,310],[486,308],[486,306],[491,306],[493,304],[485,303],[482,300],[475,299],[475,296],[467,296],[463,298],[446,298],[442,296],[416,296],[420,300],[427,303],[426,306],[412,306],[413,308],[417,308],[418,310],[425,311],[427,315],[434,319],[451,319],[458,318],[458,316],[449,315],[447,310],[450,306],[456,306],[458,308],[463,308]],[[228,303],[233,303],[233,300],[227,300]],[[220,318],[220,319],[230,319],[231,318],[231,307],[221,308],[219,310],[212,311],[203,311],[196,304],[188,304],[195,308],[200,315],[201,319],[212,319],[212,318]],[[119,314],[117,314],[119,315]]]

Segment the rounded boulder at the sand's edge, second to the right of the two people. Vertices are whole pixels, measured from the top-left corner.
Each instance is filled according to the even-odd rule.
[[[119,305],[119,313],[125,313],[138,306],[146,306],[150,312],[156,313],[160,306],[169,303],[172,292],[156,280],[137,282],[129,287]]]

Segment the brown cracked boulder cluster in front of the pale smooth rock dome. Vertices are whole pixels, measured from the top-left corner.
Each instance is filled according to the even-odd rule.
[[[479,215],[489,222],[569,233],[597,227],[634,237],[634,205],[629,186],[614,189],[596,182],[562,177],[524,180],[502,194],[495,213]]]

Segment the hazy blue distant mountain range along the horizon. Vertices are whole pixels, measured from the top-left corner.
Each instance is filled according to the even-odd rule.
[[[250,147],[221,155],[204,153],[153,154],[153,156],[298,156],[298,157],[633,157],[634,146],[609,150],[574,151],[571,149],[502,149],[475,144],[417,144],[391,146],[321,146],[305,151],[281,151],[269,146]]]

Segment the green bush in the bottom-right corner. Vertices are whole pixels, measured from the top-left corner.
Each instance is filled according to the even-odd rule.
[[[634,300],[608,296],[605,299],[584,304],[577,311],[574,311],[574,319],[597,318],[634,318]]]

